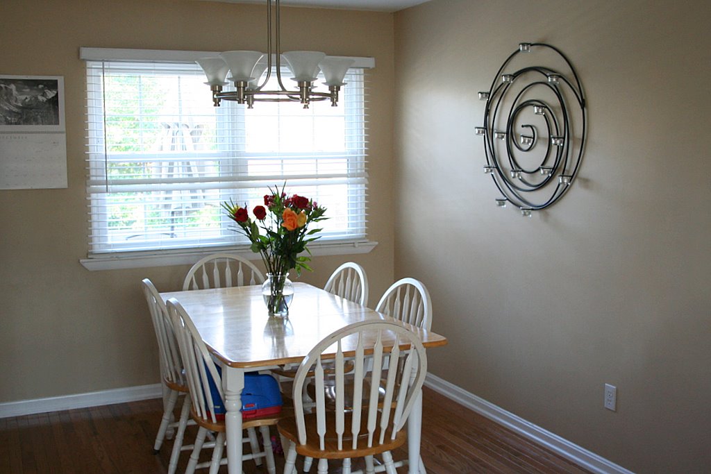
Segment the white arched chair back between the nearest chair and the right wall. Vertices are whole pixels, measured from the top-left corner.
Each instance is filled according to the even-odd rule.
[[[395,281],[375,306],[375,311],[385,313],[418,328],[432,327],[432,300],[421,281],[403,278]]]

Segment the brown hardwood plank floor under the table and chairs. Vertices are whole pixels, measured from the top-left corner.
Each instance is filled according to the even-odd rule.
[[[161,401],[153,399],[0,419],[0,473],[166,473],[172,443],[152,453],[161,410]],[[189,427],[186,439],[194,433]],[[182,454],[178,472],[188,456]],[[404,457],[405,451],[395,453]],[[422,458],[429,474],[588,472],[427,388]],[[277,456],[277,473],[282,465]],[[245,462],[245,474],[266,472]]]

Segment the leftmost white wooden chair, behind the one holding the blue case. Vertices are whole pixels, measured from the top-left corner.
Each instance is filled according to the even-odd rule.
[[[161,380],[167,392],[164,402],[163,418],[161,419],[161,426],[156,435],[153,451],[156,454],[159,452],[163,445],[164,438],[166,437],[166,431],[168,431],[168,429],[175,429],[177,426],[178,431],[175,433],[173,451],[171,452],[168,465],[169,474],[173,474],[176,472],[181,451],[186,451],[193,447],[183,446],[183,437],[188,424],[188,416],[190,415],[191,400],[190,397],[183,399],[180,418],[177,422],[171,422],[173,409],[176,406],[178,397],[188,393],[187,381],[183,371],[183,360],[181,359],[178,343],[175,335],[173,335],[173,329],[168,319],[168,310],[158,290],[156,290],[151,280],[147,278],[141,281],[141,285],[146,295],[146,301],[148,302],[148,308],[151,313],[151,321],[153,322],[156,339],[158,340],[159,358],[161,361]]]

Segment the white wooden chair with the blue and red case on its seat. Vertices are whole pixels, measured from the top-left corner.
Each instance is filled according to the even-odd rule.
[[[183,306],[175,298],[170,298],[166,303],[170,316],[173,332],[178,340],[181,357],[185,363],[186,379],[188,390],[191,397],[191,417],[198,424],[198,435],[196,436],[193,453],[188,461],[186,468],[187,474],[192,474],[196,469],[210,467],[210,474],[215,474],[220,469],[221,464],[227,463],[227,458],[223,459],[223,451],[225,448],[225,421],[218,419],[215,414],[215,402],[213,397],[206,395],[210,394],[210,379],[214,381],[214,389],[219,394],[219,403],[225,406],[225,394],[223,392],[222,378],[215,366],[215,362],[210,357],[205,343],[203,342],[200,333],[193,324],[190,316],[186,313]],[[209,374],[209,375],[208,375]],[[274,453],[272,452],[272,441],[269,436],[269,426],[277,424],[278,417],[261,417],[242,420],[242,428],[248,432],[255,428],[260,430],[262,435],[262,451],[255,443],[256,439],[253,436],[240,438],[238,440],[230,440],[232,443],[247,443],[252,446],[252,453],[244,454],[243,460],[261,459],[267,460],[267,471],[269,474],[276,473],[274,466]],[[205,437],[208,432],[218,433],[215,436],[213,448],[213,456],[210,462],[198,464],[200,451],[205,444]]]

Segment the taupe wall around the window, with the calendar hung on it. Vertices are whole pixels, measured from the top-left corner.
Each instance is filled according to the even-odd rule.
[[[0,402],[159,382],[140,289],[176,290],[188,266],[87,271],[85,65],[80,46],[178,50],[266,48],[262,5],[179,0],[3,0],[0,74],[63,75],[69,187],[0,190]],[[370,103],[370,203],[392,202],[392,14],[286,9],[282,45],[375,57]],[[205,90],[205,100],[209,100]],[[349,259],[375,298],[392,282],[390,205],[370,215],[370,254],[314,259],[322,286]],[[376,300],[377,302],[377,300]],[[375,303],[373,303],[375,304]]]

